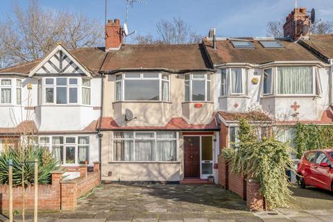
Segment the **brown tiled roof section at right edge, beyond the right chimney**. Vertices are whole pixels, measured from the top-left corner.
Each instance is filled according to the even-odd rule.
[[[302,39],[302,42],[323,56],[333,58],[333,34],[312,34],[308,39]]]

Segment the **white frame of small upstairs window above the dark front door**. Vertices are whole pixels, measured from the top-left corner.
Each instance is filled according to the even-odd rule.
[[[203,78],[193,78],[193,76],[195,75],[204,75]],[[189,76],[189,79],[186,80],[186,76]],[[209,77],[208,77],[209,76]],[[198,73],[198,74],[185,74],[184,76],[184,80],[185,80],[185,84],[184,84],[184,92],[186,91],[185,89],[185,85],[186,84],[189,84],[189,100],[187,101],[186,99],[186,96],[185,96],[185,93],[184,93],[184,101],[185,102],[198,102],[198,103],[203,103],[203,102],[210,102],[212,101],[212,76],[211,74],[205,74],[205,73]],[[205,89],[204,89],[204,92],[205,92],[205,100],[204,101],[196,101],[196,100],[193,100],[192,96],[192,86],[193,86],[193,81],[196,81],[196,80],[204,80],[205,81]],[[210,100],[208,100],[208,94],[207,94],[207,85],[210,84]]]

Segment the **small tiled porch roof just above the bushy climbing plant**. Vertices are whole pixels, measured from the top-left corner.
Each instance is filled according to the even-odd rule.
[[[272,119],[268,117],[267,114],[258,111],[250,112],[224,112],[220,111],[219,114],[225,121],[239,121],[241,118],[250,120],[261,120],[261,121],[271,121]]]

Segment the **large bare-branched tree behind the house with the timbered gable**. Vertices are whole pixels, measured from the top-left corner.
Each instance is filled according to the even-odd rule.
[[[24,10],[15,2],[13,17],[0,21],[0,68],[45,56],[57,42],[69,50],[96,46],[103,27],[83,14],[46,10],[31,0]]]

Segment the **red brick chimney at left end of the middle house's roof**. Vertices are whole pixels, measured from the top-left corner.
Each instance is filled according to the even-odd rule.
[[[105,51],[119,50],[123,44],[123,28],[119,19],[108,20],[105,26]]]

